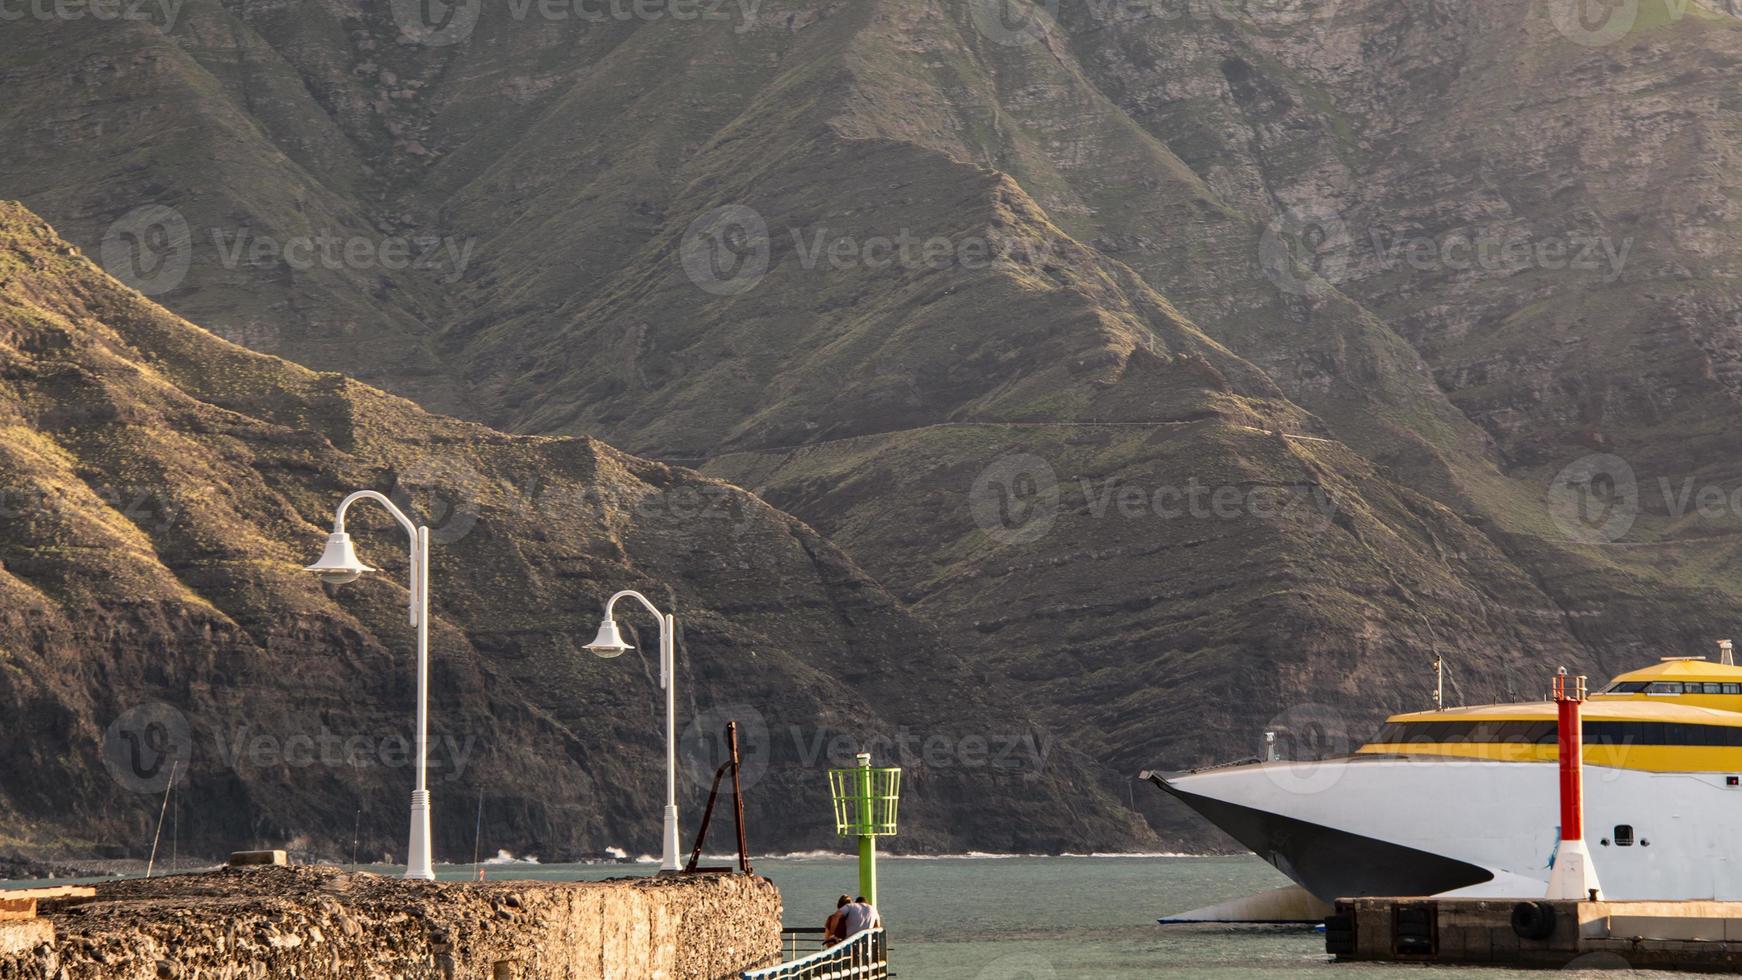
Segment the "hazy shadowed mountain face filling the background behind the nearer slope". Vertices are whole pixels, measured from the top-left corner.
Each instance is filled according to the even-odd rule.
[[[0,186],[239,343],[754,489],[1103,778],[1732,630],[1723,3],[591,10],[26,19]]]

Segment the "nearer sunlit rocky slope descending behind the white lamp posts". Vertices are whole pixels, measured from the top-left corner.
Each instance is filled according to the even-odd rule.
[[[327,592],[300,571],[359,487],[434,520],[439,860],[470,860],[479,797],[486,856],[657,853],[657,660],[580,649],[627,587],[681,623],[686,832],[716,729],[737,719],[760,849],[833,841],[822,769],[866,740],[927,747],[902,759],[913,846],[1148,839],[1071,748],[805,524],[592,439],[502,435],[233,346],[12,204],[0,378],[9,846],[138,853],[176,766],[185,851],[402,853],[401,531],[359,505],[352,531],[383,573]],[[639,613],[620,618],[657,649]],[[995,757],[1000,740],[1033,754]]]

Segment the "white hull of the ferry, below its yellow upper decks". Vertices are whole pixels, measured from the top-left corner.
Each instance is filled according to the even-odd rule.
[[[1559,841],[1552,762],[1355,755],[1151,778],[1326,902],[1542,896]],[[1725,773],[1585,768],[1604,898],[1742,900],[1739,816],[1742,787]]]

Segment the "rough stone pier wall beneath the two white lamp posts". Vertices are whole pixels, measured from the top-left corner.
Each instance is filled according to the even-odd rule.
[[[56,940],[0,980],[716,980],[780,952],[761,877],[408,883],[327,867],[225,869],[98,886],[49,907]]]

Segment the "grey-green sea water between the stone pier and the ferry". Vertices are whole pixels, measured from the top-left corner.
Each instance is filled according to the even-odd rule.
[[[756,870],[780,886],[787,926],[820,926],[834,898],[854,891],[859,881],[857,863],[847,856],[763,858]],[[625,870],[622,865],[495,865],[490,874],[596,879]],[[463,876],[455,872],[455,877]],[[878,860],[890,964],[902,980],[1406,980],[1423,973],[1542,980],[1545,975],[1540,970],[1338,964],[1324,954],[1324,938],[1308,928],[1155,923],[1171,912],[1282,884],[1287,881],[1275,869],[1252,856]],[[1676,977],[1606,970],[1568,973]]]

